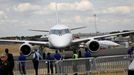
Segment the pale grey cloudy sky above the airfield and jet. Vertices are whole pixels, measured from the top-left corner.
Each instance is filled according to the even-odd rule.
[[[47,34],[29,29],[49,30],[57,24],[56,4],[60,24],[70,28],[86,26],[73,33],[134,30],[133,3],[134,0],[0,0],[0,37]]]

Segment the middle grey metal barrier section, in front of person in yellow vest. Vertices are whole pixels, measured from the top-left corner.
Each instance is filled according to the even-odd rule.
[[[79,58],[79,59],[67,59],[62,61],[57,61],[57,70],[59,74],[68,73],[82,73],[87,72],[95,67],[94,58]]]

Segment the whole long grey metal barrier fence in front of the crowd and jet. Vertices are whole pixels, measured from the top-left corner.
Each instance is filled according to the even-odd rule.
[[[64,59],[60,61],[52,61],[53,70],[56,75],[72,75],[74,73],[82,75],[101,75],[100,73],[109,72],[121,72],[120,75],[126,75],[128,65],[130,64],[130,58],[128,55],[118,55],[118,56],[104,56],[97,58],[79,58],[79,59]],[[19,62],[15,62],[15,75],[19,75]],[[32,61],[26,61],[26,73],[27,75],[33,75],[34,68]],[[43,60],[39,62],[39,75],[47,75],[47,67],[49,61]],[[49,73],[51,75],[51,73]],[[114,74],[116,75],[116,74]],[[119,75],[119,74],[118,74]]]

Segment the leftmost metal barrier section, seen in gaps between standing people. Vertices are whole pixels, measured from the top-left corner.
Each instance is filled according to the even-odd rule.
[[[38,67],[39,75],[49,74],[47,72],[47,65],[48,65],[47,62],[48,61],[44,61],[44,60],[39,61],[39,67]],[[20,63],[20,61],[15,62],[15,68],[14,68],[15,75],[19,75],[19,74],[21,75],[20,69],[19,69],[19,63]],[[54,65],[54,62],[53,62],[53,65]],[[55,67],[53,66],[53,68],[55,68]],[[35,74],[32,60],[25,61],[25,70],[26,70],[26,75],[34,75]]]

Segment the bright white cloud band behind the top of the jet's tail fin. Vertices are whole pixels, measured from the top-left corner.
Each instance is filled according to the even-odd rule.
[[[48,5],[51,10],[56,9],[56,2],[52,2]],[[58,10],[79,10],[86,11],[93,8],[93,4],[89,0],[81,0],[80,2],[74,3],[57,3]]]

